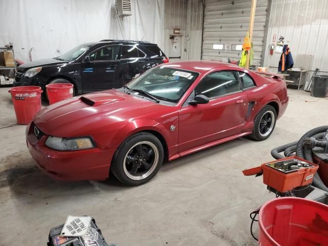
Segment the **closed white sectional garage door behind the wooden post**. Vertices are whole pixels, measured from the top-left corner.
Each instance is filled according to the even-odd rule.
[[[250,22],[251,0],[207,0],[204,15],[202,59],[239,60],[240,45]],[[257,0],[253,46],[254,65],[261,65],[269,0]]]

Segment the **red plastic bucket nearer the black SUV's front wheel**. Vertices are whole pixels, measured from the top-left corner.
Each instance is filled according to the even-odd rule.
[[[73,97],[73,85],[58,83],[46,85],[49,104]]]

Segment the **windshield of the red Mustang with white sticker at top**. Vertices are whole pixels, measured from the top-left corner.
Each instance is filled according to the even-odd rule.
[[[177,103],[197,78],[198,73],[173,67],[155,67],[132,80],[130,91],[142,90],[159,100]]]

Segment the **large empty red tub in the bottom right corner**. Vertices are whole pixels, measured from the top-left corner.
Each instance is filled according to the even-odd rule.
[[[328,245],[328,206],[282,197],[265,203],[259,213],[259,245]]]

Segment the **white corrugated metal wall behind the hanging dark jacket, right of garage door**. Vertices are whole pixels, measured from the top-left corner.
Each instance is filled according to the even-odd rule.
[[[264,66],[273,72],[281,53],[270,55],[268,46],[279,36],[291,48],[294,67],[328,71],[328,0],[272,1]]]

